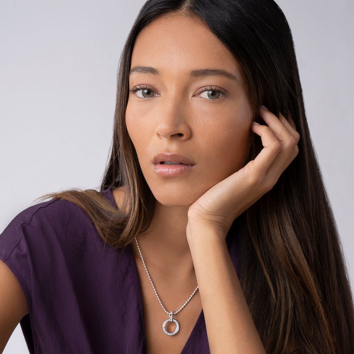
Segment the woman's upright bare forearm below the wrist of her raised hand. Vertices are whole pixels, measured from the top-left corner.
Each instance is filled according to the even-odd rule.
[[[210,352],[265,353],[231,261],[225,237],[207,227],[188,226],[207,326]]]

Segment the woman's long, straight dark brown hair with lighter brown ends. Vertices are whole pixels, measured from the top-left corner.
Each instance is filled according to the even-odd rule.
[[[291,116],[301,137],[292,164],[229,232],[240,238],[239,279],[266,352],[353,354],[351,289],[305,117],[291,31],[273,0],[147,1],[120,60],[112,152],[101,185],[101,191],[124,186],[123,206],[94,190],[52,196],[82,207],[115,248],[148,227],[154,198],[125,127],[130,59],[140,31],[172,11],[201,18],[234,55],[255,119],[266,105]],[[254,139],[249,159],[261,148]]]

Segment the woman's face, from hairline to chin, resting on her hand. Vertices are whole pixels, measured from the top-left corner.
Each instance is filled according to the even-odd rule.
[[[130,69],[126,126],[159,203],[188,206],[244,165],[247,87],[232,54],[198,18],[152,22]]]

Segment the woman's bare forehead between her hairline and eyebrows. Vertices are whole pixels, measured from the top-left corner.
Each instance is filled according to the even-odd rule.
[[[139,65],[161,72],[217,68],[241,79],[230,51],[198,17],[184,14],[161,16],[142,30],[131,59],[131,67]]]

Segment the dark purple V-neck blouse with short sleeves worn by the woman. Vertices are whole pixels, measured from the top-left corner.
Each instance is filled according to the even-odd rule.
[[[228,244],[235,265],[236,241]],[[21,212],[0,235],[0,259],[27,298],[21,327],[31,354],[146,353],[132,250],[105,245],[80,207],[59,200]],[[209,353],[203,311],[181,352],[191,353]]]

